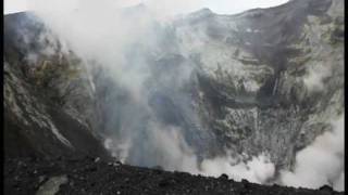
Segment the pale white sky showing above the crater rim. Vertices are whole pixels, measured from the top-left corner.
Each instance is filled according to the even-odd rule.
[[[148,0],[114,0],[124,4],[137,4]],[[176,1],[176,0],[161,0],[161,1]],[[194,2],[194,10],[201,8],[209,8],[215,13],[234,14],[254,8],[275,6],[287,2],[288,0],[186,0],[186,2]],[[25,11],[28,8],[29,0],[4,0],[4,14]]]

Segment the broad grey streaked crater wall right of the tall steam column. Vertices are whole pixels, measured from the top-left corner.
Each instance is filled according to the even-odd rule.
[[[295,153],[344,112],[344,1],[290,1],[237,15],[177,21],[181,53],[198,69],[197,110],[233,152]]]

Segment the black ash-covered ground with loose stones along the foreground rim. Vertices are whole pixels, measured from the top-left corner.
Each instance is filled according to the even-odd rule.
[[[4,194],[344,194],[323,186],[320,190],[260,185],[247,180],[191,176],[133,167],[99,157],[8,158],[4,161]]]

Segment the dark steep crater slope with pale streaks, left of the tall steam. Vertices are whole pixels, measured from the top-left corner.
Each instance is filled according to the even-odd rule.
[[[76,60],[48,38],[53,35],[29,13],[7,15],[4,27],[5,156],[108,157],[76,114],[78,103],[90,100]]]

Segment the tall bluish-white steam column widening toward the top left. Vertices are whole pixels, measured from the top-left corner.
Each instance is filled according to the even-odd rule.
[[[147,55],[165,55],[158,48],[161,35],[153,28],[163,25],[162,20],[158,22],[161,14],[166,17],[164,12],[159,14],[157,9],[161,9],[153,8],[151,3],[154,1],[149,2],[150,9],[142,5],[123,9],[125,4],[122,1],[35,0],[30,10],[58,34],[62,42],[67,42],[89,69],[99,67],[104,70],[102,77],[120,87],[110,90],[114,96],[127,95],[127,103],[111,102],[103,110],[111,118],[105,126],[115,133],[107,139],[105,146],[132,164],[189,171],[197,167],[191,150],[181,132],[173,130],[177,127],[157,121],[158,110],[149,102],[165,103],[166,99],[161,95],[166,93],[166,88],[179,90],[189,78],[191,68],[187,64],[177,65],[175,68],[179,74],[169,70],[162,76],[151,72],[153,67],[147,62]],[[173,1],[171,5],[177,9],[184,3]],[[129,52],[130,57],[127,56]],[[159,80],[160,84],[149,89],[146,83],[151,79]],[[165,95],[172,98],[171,92]],[[179,100],[185,99],[179,93],[175,95]],[[117,112],[122,113],[112,118]],[[116,117],[121,117],[119,125],[111,121]]]

